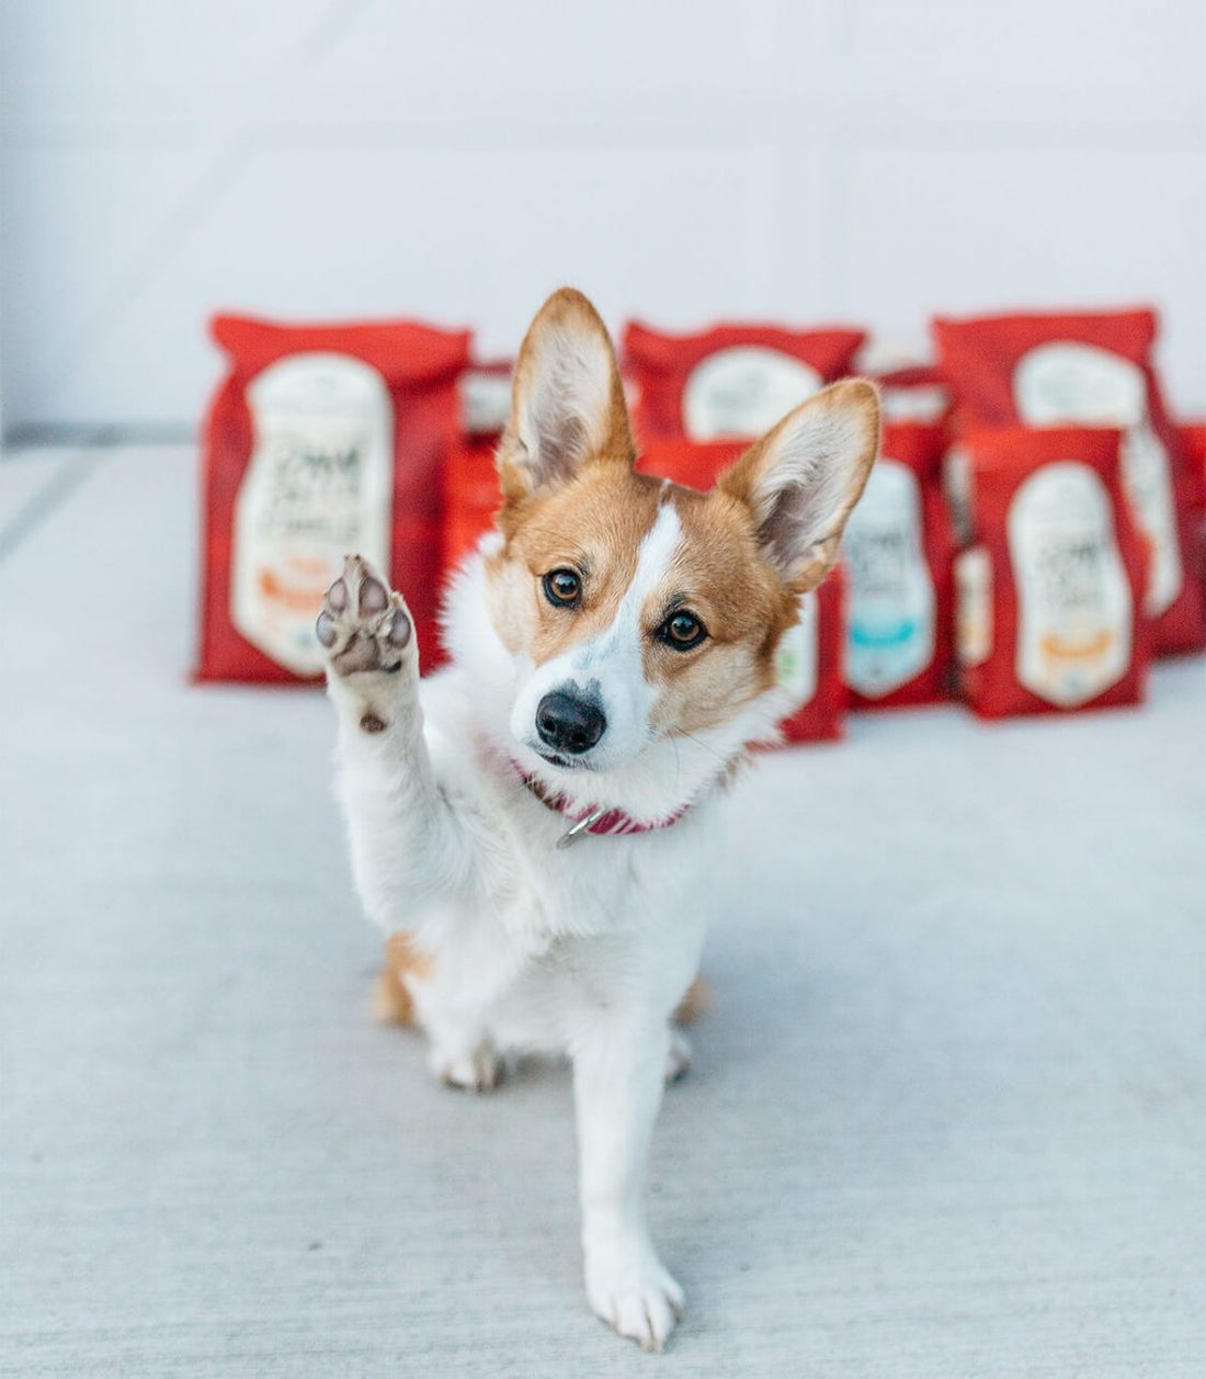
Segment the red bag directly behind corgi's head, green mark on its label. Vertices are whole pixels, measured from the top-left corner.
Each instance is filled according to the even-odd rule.
[[[697,445],[686,440],[653,441],[637,469],[706,491],[746,450],[744,441]],[[842,574],[799,601],[799,621],[784,633],[776,656],[779,683],[798,707],[781,724],[788,742],[816,742],[842,735],[846,690],[842,683]]]

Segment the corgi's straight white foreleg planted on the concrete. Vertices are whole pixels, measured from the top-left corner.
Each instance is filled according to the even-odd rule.
[[[601,1019],[573,1048],[582,1244],[591,1309],[622,1336],[660,1350],[682,1311],[645,1219],[649,1142],[670,1031]]]

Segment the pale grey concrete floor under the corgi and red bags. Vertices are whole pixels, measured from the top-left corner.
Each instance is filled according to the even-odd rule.
[[[1206,662],[765,760],[653,1219],[586,1311],[569,1085],[367,1016],[318,694],[190,688],[193,456],[0,465],[0,1372],[1206,1372]]]

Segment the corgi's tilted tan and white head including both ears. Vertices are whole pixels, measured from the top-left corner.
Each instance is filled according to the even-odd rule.
[[[551,296],[515,368],[503,541],[487,561],[521,764],[546,779],[617,771],[700,742],[770,690],[878,437],[875,390],[850,381],[788,414],[708,494],[637,474],[606,331],[580,294]]]

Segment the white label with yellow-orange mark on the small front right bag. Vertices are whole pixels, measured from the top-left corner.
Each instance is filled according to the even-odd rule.
[[[1134,610],[1110,492],[1076,461],[1024,480],[1006,519],[1017,587],[1019,683],[1068,709],[1126,674]]]

